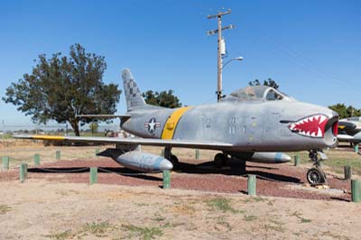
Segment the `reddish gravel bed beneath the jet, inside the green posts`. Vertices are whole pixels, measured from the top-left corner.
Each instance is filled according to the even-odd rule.
[[[330,195],[329,193],[323,193],[321,190],[310,191],[307,189],[292,188],[292,186],[302,185],[307,182],[305,178],[307,170],[288,164],[247,162],[245,172],[239,171],[240,168],[237,162],[229,162],[229,165],[230,167],[218,170],[212,167],[211,162],[183,160],[182,163],[180,163],[179,170],[171,173],[171,188],[246,193],[247,178],[245,174],[255,174],[257,175],[256,190],[258,196],[346,201],[349,201],[351,198],[350,181],[339,180],[332,175],[328,175],[329,187],[332,189],[345,189],[347,191],[346,193]],[[86,183],[89,181],[88,167],[101,168],[98,170],[97,176],[97,182],[100,184],[162,186],[162,173],[139,174],[136,171],[127,170],[119,166],[116,162],[106,158],[42,164],[41,168],[30,168],[28,178]],[[81,170],[81,168],[86,169]],[[102,171],[102,169],[106,171]],[[18,170],[0,172],[1,181],[18,179]]]

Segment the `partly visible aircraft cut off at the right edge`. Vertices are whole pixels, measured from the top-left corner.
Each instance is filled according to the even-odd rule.
[[[338,141],[351,144],[361,143],[361,116],[353,116],[339,120]]]

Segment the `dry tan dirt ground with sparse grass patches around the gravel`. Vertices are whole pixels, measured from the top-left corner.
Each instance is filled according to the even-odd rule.
[[[24,183],[17,180],[19,162],[32,167],[34,153],[41,154],[42,165],[58,166],[55,152],[60,150],[62,162],[79,167],[85,162],[74,159],[103,161],[97,161],[95,149],[21,143],[2,149],[2,155],[13,160],[12,169],[0,175],[15,177],[0,178],[0,239],[359,239],[361,235],[361,204],[184,189],[183,176],[190,175],[193,184],[198,182],[199,177],[189,172],[175,173],[171,189],[161,189],[162,180],[146,178],[139,180],[146,186],[125,186],[126,178],[116,179],[124,180],[122,185],[109,184],[106,174],[99,174],[100,182],[92,186],[87,183],[88,173],[80,173],[80,181],[75,182],[69,182],[66,174],[42,172],[30,172]],[[160,153],[160,149],[147,151]],[[175,153],[180,159],[194,158],[194,151]],[[201,152],[201,157],[213,154]],[[208,174],[206,181],[218,175],[227,177]],[[227,180],[225,184],[230,185]]]

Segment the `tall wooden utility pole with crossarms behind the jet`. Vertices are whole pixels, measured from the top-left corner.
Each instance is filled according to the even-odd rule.
[[[218,14],[214,14],[214,15],[208,15],[207,19],[211,19],[211,18],[216,18],[218,17],[218,29],[216,30],[210,30],[207,32],[207,35],[214,35],[214,34],[218,34],[218,86],[217,86],[217,101],[219,102],[222,99],[222,30],[227,30],[227,29],[233,29],[236,26],[229,24],[227,27],[223,27],[222,28],[222,16],[225,14],[230,14],[231,10],[228,9],[227,12],[218,12]],[[223,49],[224,50],[224,49]],[[225,51],[225,50],[224,50]]]

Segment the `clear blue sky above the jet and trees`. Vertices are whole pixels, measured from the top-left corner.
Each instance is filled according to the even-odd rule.
[[[208,14],[230,8],[224,25],[225,93],[273,78],[296,99],[361,108],[360,1],[1,1],[0,96],[41,53],[80,43],[106,57],[105,82],[129,68],[141,90],[173,89],[183,105],[216,102],[217,28]],[[5,124],[30,117],[0,102]],[[125,112],[124,95],[118,114]]]

